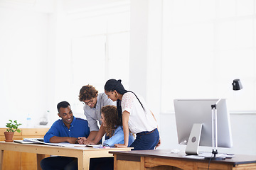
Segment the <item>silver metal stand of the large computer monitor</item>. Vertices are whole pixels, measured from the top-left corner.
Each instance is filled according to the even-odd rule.
[[[186,154],[198,155],[198,146],[201,138],[202,123],[194,123],[189,135]]]

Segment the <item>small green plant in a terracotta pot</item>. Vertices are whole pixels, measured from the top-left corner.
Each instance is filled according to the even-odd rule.
[[[6,142],[13,142],[14,132],[21,132],[21,130],[18,129],[18,126],[20,126],[21,123],[17,123],[17,120],[9,120],[9,123],[6,123],[6,132],[4,132],[4,136],[6,138]]]

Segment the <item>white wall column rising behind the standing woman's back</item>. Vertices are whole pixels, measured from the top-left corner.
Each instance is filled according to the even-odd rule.
[[[131,0],[129,89],[161,111],[162,1]]]

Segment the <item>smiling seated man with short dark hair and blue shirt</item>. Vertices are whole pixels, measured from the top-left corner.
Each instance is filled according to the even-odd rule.
[[[78,143],[78,137],[88,137],[90,128],[87,120],[75,118],[67,101],[58,103],[58,116],[61,118],[51,126],[46,133],[44,142]],[[41,168],[45,169],[78,169],[78,159],[75,157],[47,157],[40,163]]]

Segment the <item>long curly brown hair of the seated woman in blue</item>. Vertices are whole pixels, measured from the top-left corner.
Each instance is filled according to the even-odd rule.
[[[114,130],[117,129],[118,126],[122,125],[122,122],[120,122],[117,117],[117,107],[104,106],[101,111],[105,118],[106,134],[109,137],[112,137],[114,135]]]

